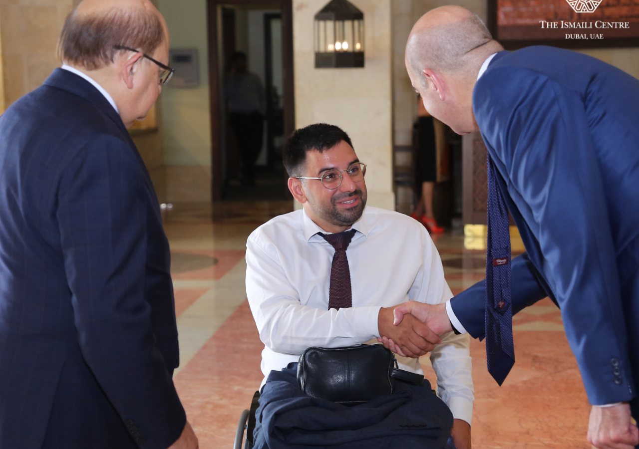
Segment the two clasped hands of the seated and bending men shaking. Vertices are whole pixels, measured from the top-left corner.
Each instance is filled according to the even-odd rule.
[[[452,331],[445,304],[408,301],[382,307],[377,319],[377,340],[396,354],[417,358],[433,351],[440,337]]]

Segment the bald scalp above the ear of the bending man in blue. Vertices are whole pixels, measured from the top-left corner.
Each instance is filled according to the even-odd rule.
[[[461,6],[442,6],[424,14],[413,26],[406,44],[406,65],[415,74],[429,68],[464,76],[474,70],[477,61],[499,50],[501,45],[477,15]]]

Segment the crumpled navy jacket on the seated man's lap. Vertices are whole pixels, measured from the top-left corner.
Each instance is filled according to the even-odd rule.
[[[452,413],[428,381],[396,380],[392,395],[353,407],[316,399],[297,384],[297,364],[271,371],[259,397],[254,449],[442,449]]]

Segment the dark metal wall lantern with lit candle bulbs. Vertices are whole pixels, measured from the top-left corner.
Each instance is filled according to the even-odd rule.
[[[315,67],[364,67],[364,13],[331,0],[315,15]]]

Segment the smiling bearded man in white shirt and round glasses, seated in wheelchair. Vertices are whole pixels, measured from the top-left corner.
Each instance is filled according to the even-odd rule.
[[[246,252],[246,290],[265,344],[265,377],[298,361],[308,347],[397,338],[412,357],[398,357],[401,369],[421,373],[417,357],[432,351],[438,393],[455,418],[454,443],[470,448],[468,338],[450,332],[433,339],[411,316],[393,326],[396,304],[452,297],[428,232],[406,215],[366,207],[366,164],[337,126],[297,130],[283,156],[288,188],[303,209],[258,227]]]

